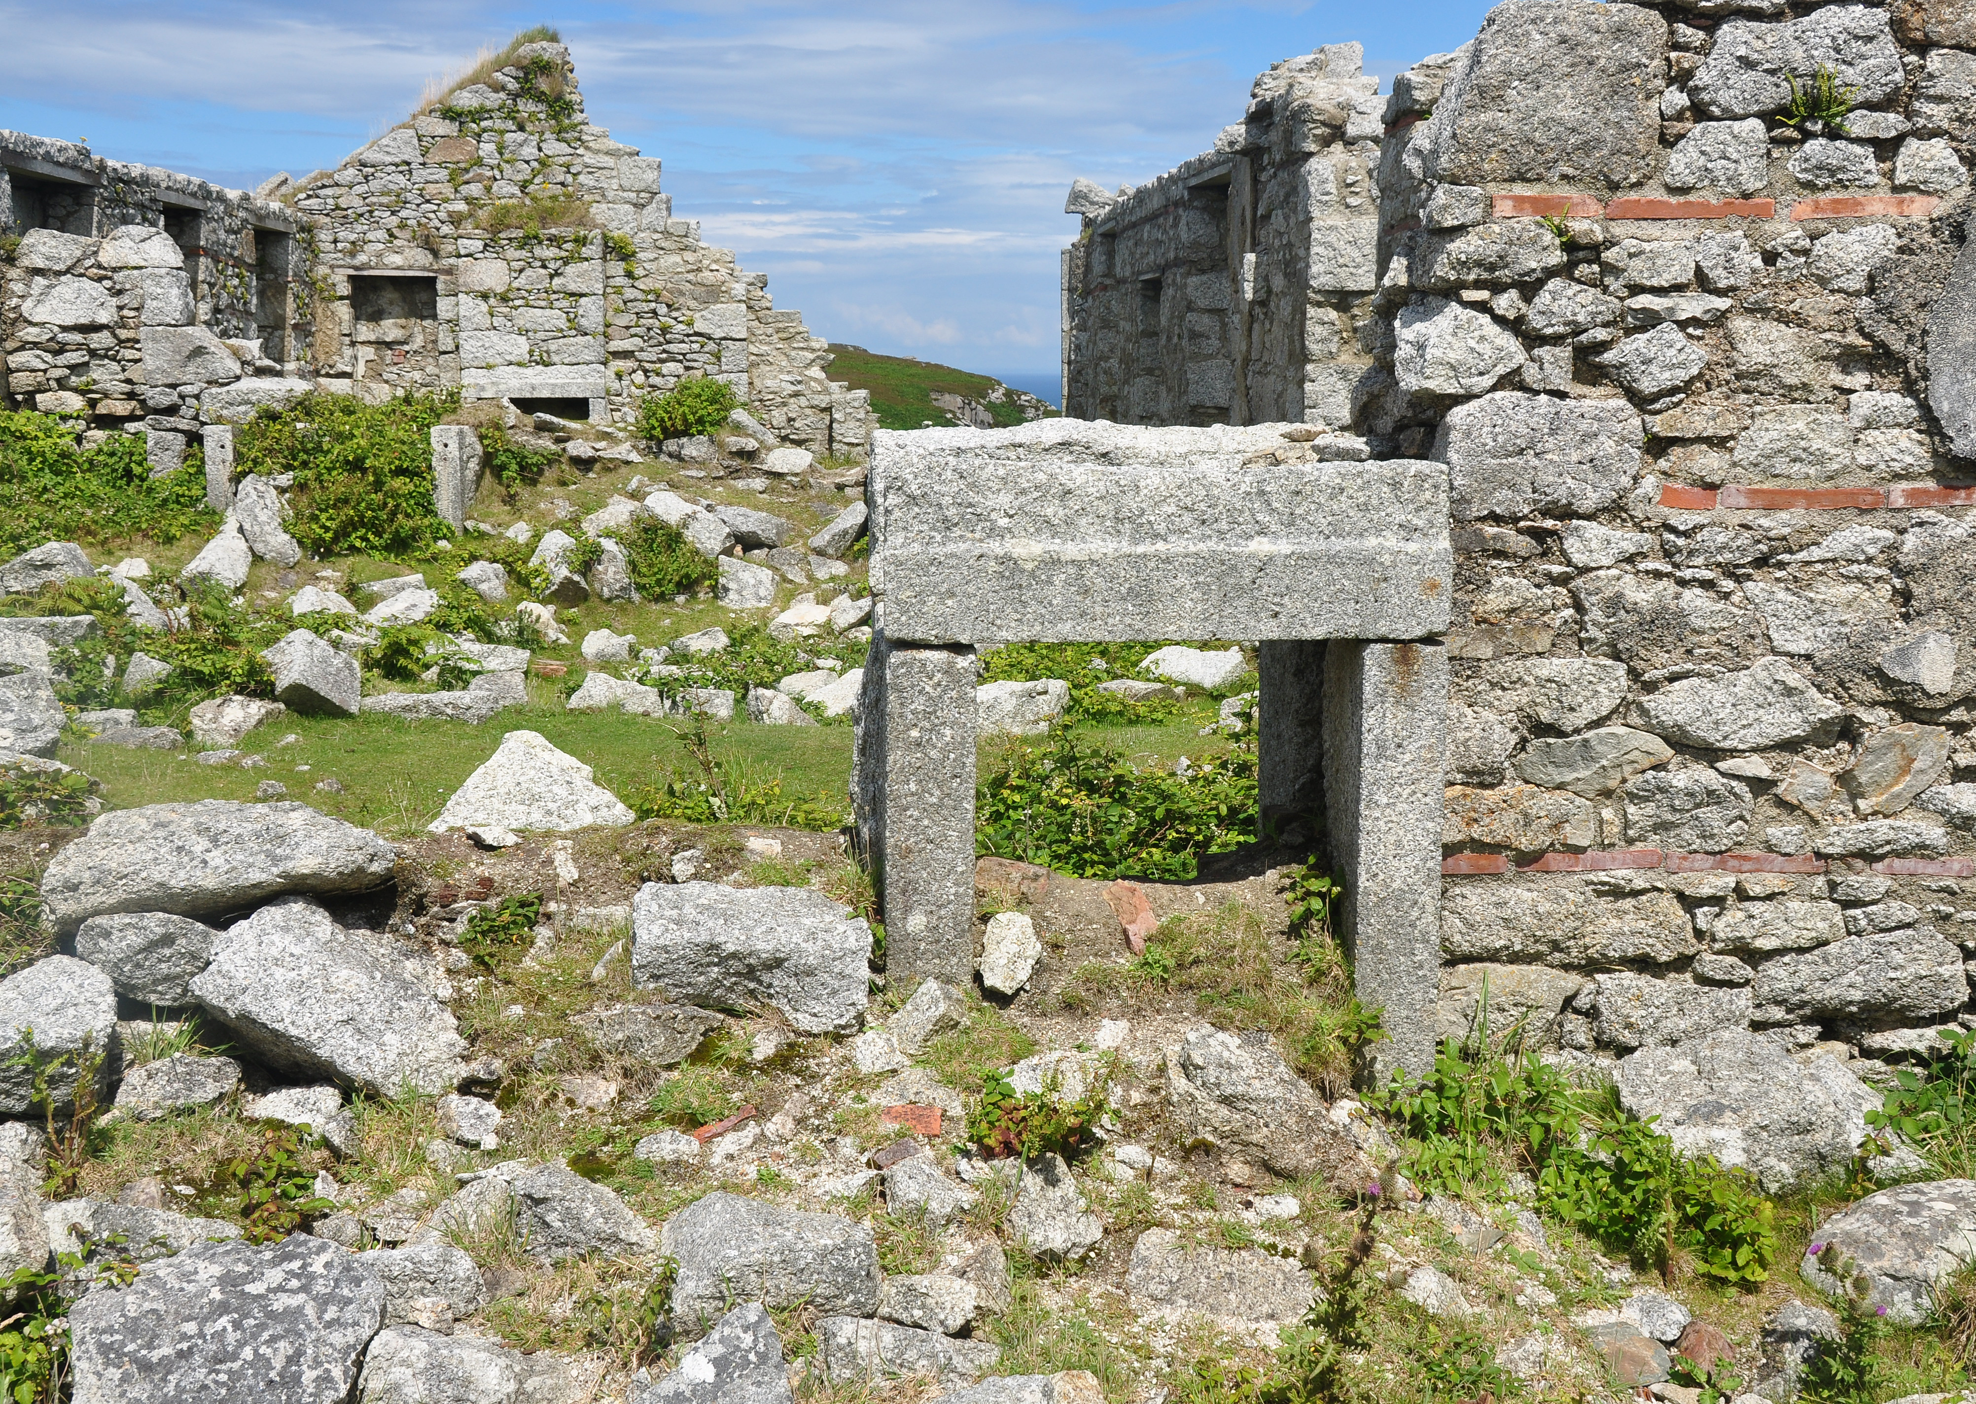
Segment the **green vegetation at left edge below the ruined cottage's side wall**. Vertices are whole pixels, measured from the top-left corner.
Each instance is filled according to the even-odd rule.
[[[219,525],[196,452],[152,478],[142,434],[89,450],[79,434],[81,425],[57,415],[0,409],[0,557],[45,541],[178,541]]]

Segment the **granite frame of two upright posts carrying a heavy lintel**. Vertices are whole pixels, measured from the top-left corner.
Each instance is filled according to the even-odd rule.
[[[1356,989],[1385,1015],[1371,1074],[1433,1066],[1446,468],[1255,462],[1298,430],[877,434],[852,790],[893,979],[974,977],[980,646],[1253,640],[1263,810],[1326,814]]]

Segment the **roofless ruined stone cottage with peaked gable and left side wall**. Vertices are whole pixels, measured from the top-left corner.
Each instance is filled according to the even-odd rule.
[[[253,195],[0,132],[0,348],[12,405],[146,432],[310,387],[458,389],[626,425],[690,375],[779,440],[862,460],[864,391],[765,274],[672,217],[660,162],[583,113],[561,43],[510,45],[336,170]]]

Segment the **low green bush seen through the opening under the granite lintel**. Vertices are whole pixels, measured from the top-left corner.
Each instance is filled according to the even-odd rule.
[[[974,800],[982,853],[1075,877],[1192,881],[1199,859],[1257,835],[1257,754],[1237,746],[1186,774],[1138,770],[1105,744],[1057,729],[1010,744]]]

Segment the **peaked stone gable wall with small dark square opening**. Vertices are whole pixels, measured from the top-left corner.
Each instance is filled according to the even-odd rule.
[[[862,456],[865,397],[826,379],[826,344],[767,276],[672,217],[656,158],[585,118],[569,51],[508,57],[290,195],[322,231],[320,373],[583,399],[617,423],[707,375],[779,438]]]

